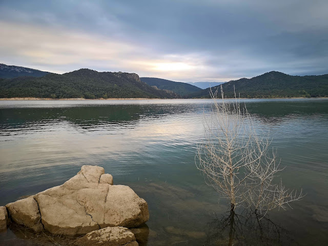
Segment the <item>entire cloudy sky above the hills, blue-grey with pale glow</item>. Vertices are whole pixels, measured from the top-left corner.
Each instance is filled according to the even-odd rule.
[[[327,0],[0,0],[0,63],[228,81],[328,73]]]

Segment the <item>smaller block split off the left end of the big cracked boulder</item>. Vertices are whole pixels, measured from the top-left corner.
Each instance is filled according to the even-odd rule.
[[[39,208],[33,196],[8,203],[6,207],[12,221],[24,224],[36,232],[44,229]]]

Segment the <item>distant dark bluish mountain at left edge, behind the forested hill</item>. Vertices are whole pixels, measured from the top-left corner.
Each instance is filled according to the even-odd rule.
[[[49,72],[44,72],[32,68],[23,68],[17,66],[7,66],[0,64],[0,78],[14,78],[20,76],[42,77]]]

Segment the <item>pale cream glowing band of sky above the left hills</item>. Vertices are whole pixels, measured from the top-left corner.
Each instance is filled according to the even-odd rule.
[[[0,25],[6,36],[0,39],[0,52],[9,61],[8,65],[55,73],[80,68],[125,71],[175,80],[190,78],[195,71],[200,76],[209,71],[203,65],[203,54],[156,55],[137,44],[100,35],[5,22],[0,22]]]

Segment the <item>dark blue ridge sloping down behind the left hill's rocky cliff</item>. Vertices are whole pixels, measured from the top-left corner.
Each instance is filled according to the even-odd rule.
[[[145,82],[150,86],[156,86],[158,89],[162,90],[170,90],[181,96],[201,90],[200,88],[187,83],[175,82],[162,78],[141,77],[140,79],[142,82]]]

